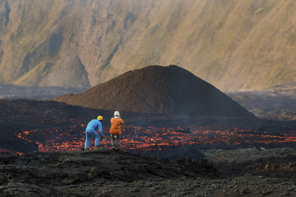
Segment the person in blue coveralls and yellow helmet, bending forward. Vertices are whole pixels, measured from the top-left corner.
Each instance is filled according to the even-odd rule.
[[[103,120],[102,116],[98,116],[97,119],[91,120],[86,127],[86,139],[85,139],[85,145],[84,148],[81,148],[81,150],[89,150],[89,140],[90,135],[95,138],[95,147],[94,149],[99,149],[100,144],[100,136],[101,139],[106,140],[107,138],[103,134],[103,127],[101,121]],[[96,130],[99,130],[99,134]]]

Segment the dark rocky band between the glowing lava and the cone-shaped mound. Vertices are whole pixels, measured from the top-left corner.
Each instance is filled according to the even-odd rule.
[[[98,115],[112,117],[114,111],[104,111],[81,106],[68,105],[53,100],[31,99],[0,99],[0,149],[13,152],[37,151],[37,144],[20,139],[16,133],[31,130],[53,130],[55,127],[61,130],[69,129],[70,126],[87,124]],[[268,121],[245,118],[222,118],[222,117],[183,117],[163,116],[155,114],[138,114],[120,112],[125,123],[137,126],[167,127],[197,124],[200,126],[236,127],[241,129],[252,127],[261,130],[280,131],[283,129],[293,130],[294,122]],[[106,118],[107,119],[107,118]]]

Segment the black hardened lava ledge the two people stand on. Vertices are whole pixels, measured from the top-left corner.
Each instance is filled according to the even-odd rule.
[[[217,177],[217,169],[205,159],[170,162],[104,149],[32,152],[21,156],[0,153],[0,196],[3,197],[110,197],[117,195],[106,195],[104,185],[126,187],[140,181],[139,186],[152,187],[150,179],[198,177]]]

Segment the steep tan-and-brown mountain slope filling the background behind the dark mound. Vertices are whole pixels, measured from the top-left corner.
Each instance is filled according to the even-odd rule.
[[[0,83],[92,87],[170,64],[223,92],[295,82],[295,9],[294,0],[2,0]]]

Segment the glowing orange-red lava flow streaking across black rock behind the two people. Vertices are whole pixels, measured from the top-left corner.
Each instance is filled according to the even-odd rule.
[[[121,145],[127,150],[156,150],[167,146],[180,145],[217,145],[217,144],[268,144],[295,142],[296,132],[270,135],[251,130],[208,130],[191,126],[178,128],[140,128],[137,126],[122,126]],[[100,140],[100,144],[111,148],[109,129],[104,129],[104,134],[109,138],[107,141]],[[71,127],[67,131],[55,128],[54,130],[22,131],[17,134],[19,138],[30,142],[36,142],[38,150],[46,151],[70,151],[80,150],[84,146],[85,126]],[[94,138],[91,137],[90,148],[94,146]]]

